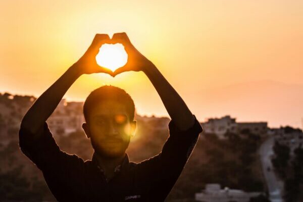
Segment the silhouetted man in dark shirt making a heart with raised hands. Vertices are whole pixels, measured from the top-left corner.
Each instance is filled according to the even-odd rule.
[[[122,43],[127,64],[115,72],[96,64],[104,43]],[[122,89],[103,86],[85,100],[82,127],[94,148],[92,160],[61,151],[46,120],[63,95],[82,74],[142,71],[153,83],[171,121],[170,136],[162,152],[141,163],[129,162],[125,150],[134,134],[134,104]],[[19,131],[23,153],[42,171],[49,189],[59,201],[164,201],[178,179],[202,131],[182,98],[156,66],[141,55],[125,33],[112,39],[96,34],[85,54],[31,106]],[[138,151],[139,152],[139,151]]]

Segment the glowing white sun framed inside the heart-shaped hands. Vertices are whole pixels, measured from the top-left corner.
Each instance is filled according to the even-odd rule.
[[[99,66],[115,71],[127,63],[127,53],[121,43],[103,44],[96,55]]]

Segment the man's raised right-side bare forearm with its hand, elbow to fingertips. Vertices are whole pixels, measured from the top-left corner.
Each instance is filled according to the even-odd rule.
[[[114,76],[125,71],[143,71],[156,88],[169,116],[176,126],[181,130],[187,130],[193,126],[195,118],[183,99],[164,78],[157,67],[137,51],[126,33],[116,33],[113,35],[112,40],[122,43],[128,54],[127,64],[117,69],[114,72]]]

